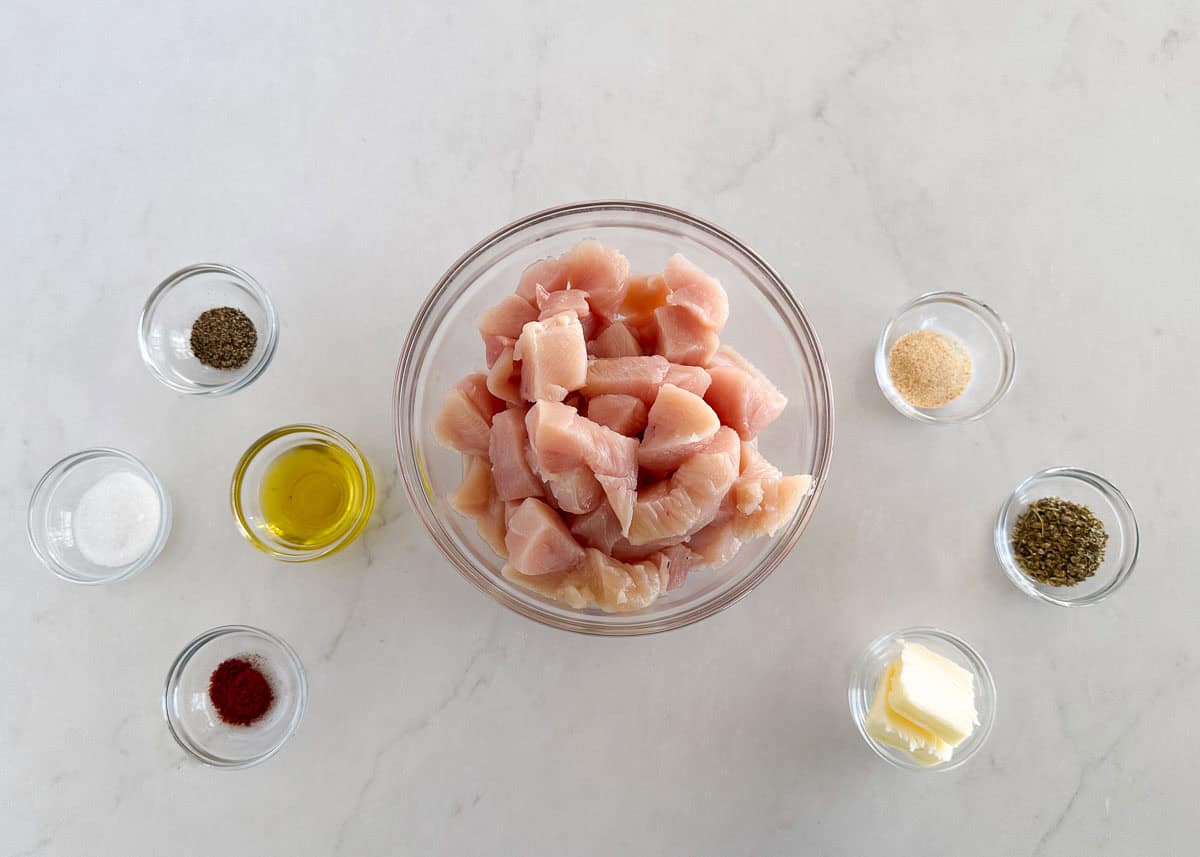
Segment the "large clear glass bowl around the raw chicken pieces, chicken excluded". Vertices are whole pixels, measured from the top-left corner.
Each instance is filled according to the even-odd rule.
[[[632,613],[572,610],[504,580],[503,559],[476,533],[474,522],[445,501],[462,478],[462,460],[439,445],[432,430],[445,391],[462,376],[484,368],[475,319],[511,294],[532,263],[564,253],[586,238],[620,250],[635,272],[661,270],[678,251],[721,281],[732,307],[722,341],[762,368],[791,402],[762,433],[760,448],[785,473],[810,473],[815,480],[796,517],[774,538],[746,543],[722,568],[689,576],[685,586]],[[416,313],[396,370],[394,406],[404,485],[450,563],[481,592],[523,616],[601,635],[680,628],[727,607],[761,583],[796,545],[816,508],[834,432],[833,391],[821,343],[779,275],[712,223],[662,205],[620,200],[540,211],[468,250]]]

